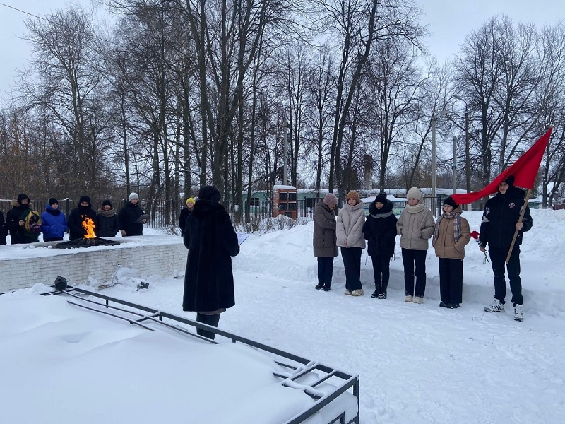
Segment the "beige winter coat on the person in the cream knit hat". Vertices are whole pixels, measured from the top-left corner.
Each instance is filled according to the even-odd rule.
[[[418,205],[424,204],[420,199]],[[421,211],[412,213],[407,206],[396,221],[396,232],[400,235],[400,247],[410,250],[427,250],[428,239],[434,235],[436,223],[432,211],[424,207]]]

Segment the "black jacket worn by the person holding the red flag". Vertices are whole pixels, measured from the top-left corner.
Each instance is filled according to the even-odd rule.
[[[496,196],[487,200],[482,213],[479,236],[482,246],[487,246],[488,243],[491,246],[499,247],[499,249],[510,249],[516,231],[516,223],[524,206],[524,196],[523,189],[511,186],[505,194],[498,192]],[[524,226],[522,230],[518,231],[516,245],[521,245],[523,232],[532,228],[532,216],[528,206],[525,208],[522,222]]]

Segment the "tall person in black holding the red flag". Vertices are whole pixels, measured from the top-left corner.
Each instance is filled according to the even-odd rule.
[[[506,279],[504,266],[510,251],[514,232],[518,230],[518,237],[510,254],[510,261],[506,264],[512,291],[512,304],[514,319],[523,321],[524,310],[522,296],[522,280],[520,278],[520,245],[523,232],[532,228],[530,208],[524,201],[523,189],[514,187],[514,177],[510,175],[499,184],[496,196],[487,200],[482,213],[482,223],[479,235],[481,252],[486,252],[489,246],[489,257],[494,273],[494,303],[485,306],[486,312],[504,312],[506,298]],[[522,222],[518,222],[522,208],[525,212]]]

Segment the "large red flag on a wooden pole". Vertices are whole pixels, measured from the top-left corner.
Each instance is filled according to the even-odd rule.
[[[545,153],[545,148],[547,147],[547,143],[549,143],[549,136],[551,134],[552,128],[549,128],[540,139],[533,143],[533,146],[530,147],[526,153],[521,155],[511,167],[507,167],[506,170],[502,171],[501,174],[493,179],[484,189],[467,194],[452,194],[451,197],[453,197],[453,200],[459,205],[470,204],[484,196],[496,193],[499,184],[510,175],[514,176],[514,185],[524,187],[525,189],[533,189],[537,170],[540,169],[540,163],[542,163],[543,154]]]

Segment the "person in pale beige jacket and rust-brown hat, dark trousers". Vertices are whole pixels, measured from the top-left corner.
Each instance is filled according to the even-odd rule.
[[[343,209],[338,213],[335,229],[345,268],[345,295],[363,296],[365,293],[361,285],[361,254],[365,248],[365,211],[357,192],[347,193],[345,201]]]

